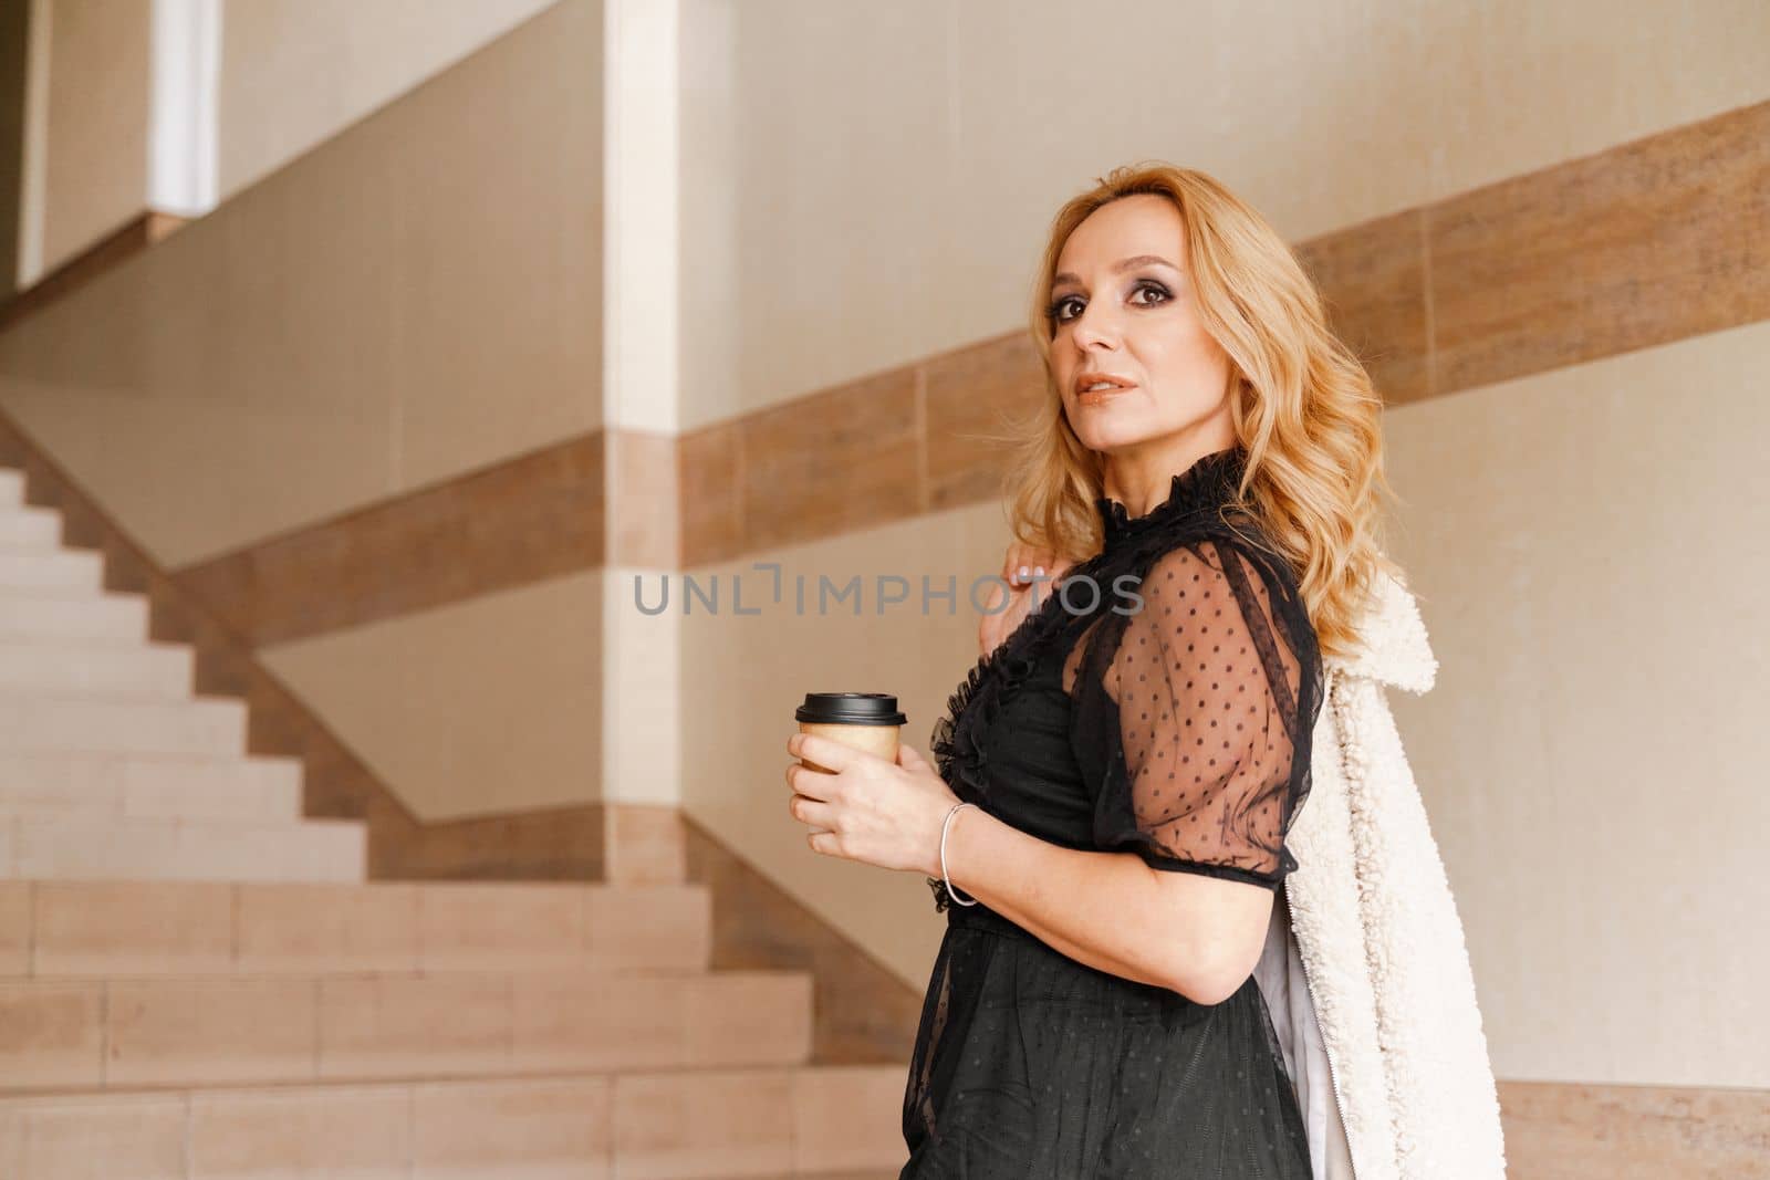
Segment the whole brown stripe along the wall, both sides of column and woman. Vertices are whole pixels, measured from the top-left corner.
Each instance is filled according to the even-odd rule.
[[[1756,322],[1770,317],[1770,103],[1297,255],[1391,405]],[[609,559],[667,570],[763,554],[995,499],[1004,451],[989,435],[1039,389],[1034,349],[1011,333],[674,441],[570,439],[177,577],[269,644]]]

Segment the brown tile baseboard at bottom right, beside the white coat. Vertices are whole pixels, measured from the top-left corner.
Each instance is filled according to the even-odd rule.
[[[1770,1090],[1503,1081],[1512,1180],[1770,1180]]]

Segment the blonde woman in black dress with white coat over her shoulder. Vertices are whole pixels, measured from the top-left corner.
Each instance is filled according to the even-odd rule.
[[[1404,923],[1359,915],[1366,885],[1389,897],[1347,819],[1377,794],[1340,764],[1322,877],[1287,904],[1319,734],[1336,752],[1381,709],[1329,725],[1324,669],[1368,672],[1405,596],[1377,543],[1368,377],[1283,241],[1198,172],[1120,168],[1071,200],[1034,306],[1048,391],[1011,474],[1020,586],[935,727],[938,766],[788,745],[834,771],[788,768],[811,847],[926,872],[947,913],[901,1175],[1503,1175],[1455,911],[1409,931],[1443,1010],[1361,968]],[[1430,846],[1423,823],[1363,819],[1395,856]],[[1411,1100],[1434,1079],[1381,1054],[1397,1019],[1455,1046],[1467,1116]]]

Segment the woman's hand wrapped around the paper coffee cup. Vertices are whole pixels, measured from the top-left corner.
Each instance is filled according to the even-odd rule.
[[[959,796],[920,752],[899,743],[897,761],[887,762],[807,732],[789,736],[786,750],[834,771],[786,768],[788,812],[812,828],[812,851],[940,876],[940,828]]]

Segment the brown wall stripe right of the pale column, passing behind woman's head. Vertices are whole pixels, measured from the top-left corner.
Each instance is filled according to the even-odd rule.
[[[1391,405],[1770,318],[1770,103],[1297,255]],[[692,430],[683,566],[995,499],[1002,449],[986,435],[1041,387],[1011,333]]]

